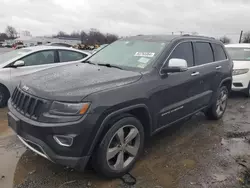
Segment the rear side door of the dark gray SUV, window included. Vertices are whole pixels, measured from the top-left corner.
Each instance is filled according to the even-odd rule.
[[[195,71],[199,73],[199,82],[192,95],[198,95],[195,99],[195,106],[198,110],[207,106],[213,94],[213,83],[216,81],[216,65],[214,63],[214,54],[209,42],[194,42],[195,49]]]

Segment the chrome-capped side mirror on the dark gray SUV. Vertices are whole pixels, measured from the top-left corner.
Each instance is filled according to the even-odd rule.
[[[172,58],[168,61],[168,66],[163,67],[161,72],[163,74],[184,72],[188,69],[187,61],[185,59]]]

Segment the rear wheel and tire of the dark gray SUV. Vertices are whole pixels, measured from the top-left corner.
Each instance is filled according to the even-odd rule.
[[[229,93],[226,86],[222,86],[218,89],[215,102],[205,112],[205,115],[208,117],[208,119],[219,120],[222,118],[227,107],[228,95]],[[218,108],[220,108],[220,110],[218,110]]]

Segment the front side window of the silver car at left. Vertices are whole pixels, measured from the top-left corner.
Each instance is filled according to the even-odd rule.
[[[54,51],[41,51],[28,55],[21,60],[24,61],[25,66],[42,65],[55,63]]]

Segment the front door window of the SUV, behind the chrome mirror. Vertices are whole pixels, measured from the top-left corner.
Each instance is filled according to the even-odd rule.
[[[185,59],[188,63],[188,67],[194,66],[193,48],[191,42],[179,44],[172,52],[169,59],[172,58]]]

